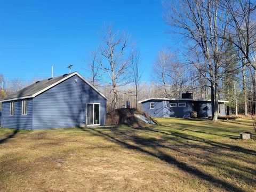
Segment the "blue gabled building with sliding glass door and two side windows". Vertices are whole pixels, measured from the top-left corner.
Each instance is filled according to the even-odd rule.
[[[1,127],[53,129],[106,123],[107,98],[77,72],[38,81],[2,102]]]

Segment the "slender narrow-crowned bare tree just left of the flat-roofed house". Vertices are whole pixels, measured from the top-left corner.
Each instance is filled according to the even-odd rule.
[[[135,108],[138,109],[138,95],[140,91],[140,83],[142,71],[140,67],[140,52],[138,50],[133,51],[132,60],[131,60],[131,69],[132,69],[132,81],[135,86]]]

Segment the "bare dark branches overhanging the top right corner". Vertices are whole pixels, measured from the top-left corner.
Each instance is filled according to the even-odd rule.
[[[251,0],[226,0],[223,9],[229,13],[230,30],[222,36],[241,52],[241,61],[256,69],[256,3]],[[228,17],[228,16],[227,16]],[[230,38],[231,37],[231,38]]]

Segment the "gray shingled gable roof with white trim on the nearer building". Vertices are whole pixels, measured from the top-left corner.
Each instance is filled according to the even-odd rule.
[[[33,83],[24,89],[15,92],[13,94],[10,94],[8,97],[1,100],[1,102],[5,101],[13,101],[18,99],[27,99],[27,98],[35,98],[38,94],[41,94],[49,89],[51,89],[53,86],[58,85],[59,83],[65,81],[66,79],[73,77],[74,75],[77,75],[80,77],[85,83],[87,83],[89,86],[92,87],[96,92],[98,92],[103,98],[107,99],[107,97],[101,93],[95,86],[93,86],[91,83],[89,83],[82,75],[80,75],[77,72],[73,72],[70,74],[61,75],[58,77],[48,78],[44,79],[42,81],[38,81],[36,83]]]

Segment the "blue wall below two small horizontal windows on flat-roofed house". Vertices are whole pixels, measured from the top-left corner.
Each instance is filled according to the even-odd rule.
[[[177,103],[177,107],[171,107],[170,103]],[[179,107],[179,103],[186,103],[186,107]],[[189,118],[194,110],[194,103],[189,101],[164,101],[164,117]]]

